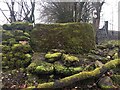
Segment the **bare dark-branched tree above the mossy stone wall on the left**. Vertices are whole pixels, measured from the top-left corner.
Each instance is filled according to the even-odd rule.
[[[5,0],[4,3],[8,6],[10,17],[5,15],[2,8],[0,8],[0,11],[9,23],[16,21],[26,21],[30,23],[35,22],[35,0],[30,0],[30,4],[28,4],[28,2],[26,2],[25,0],[11,0],[10,2]],[[15,11],[15,4],[19,6],[18,11]]]

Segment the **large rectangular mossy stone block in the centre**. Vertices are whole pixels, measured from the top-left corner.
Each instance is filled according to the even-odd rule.
[[[69,53],[84,53],[95,47],[92,25],[88,23],[37,24],[31,32],[34,51],[63,49]]]

